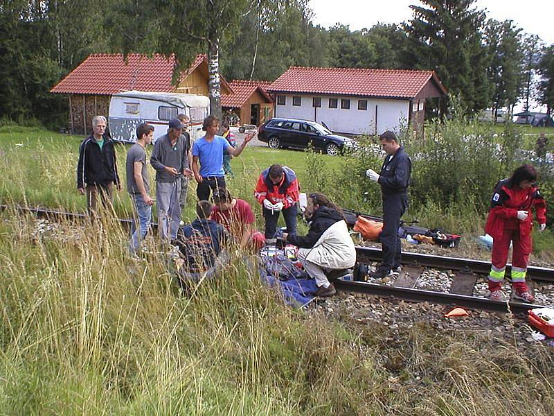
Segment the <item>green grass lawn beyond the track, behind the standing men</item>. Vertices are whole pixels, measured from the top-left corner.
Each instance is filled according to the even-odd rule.
[[[0,171],[3,175],[0,200],[18,202],[29,206],[66,209],[84,212],[86,201],[76,189],[75,171],[78,148],[82,137],[58,135],[37,128],[0,128]],[[116,193],[114,208],[120,216],[129,216],[131,200],[126,192],[125,157],[129,145],[117,145],[117,164],[123,190]],[[152,148],[147,150],[150,157]],[[239,198],[250,202],[256,208],[253,198],[258,175],[274,163],[291,167],[301,184],[305,174],[307,153],[294,150],[271,150],[261,147],[247,147],[240,157],[232,160],[234,179],[228,179],[229,189]],[[339,158],[318,155],[329,169],[338,169]],[[151,195],[155,195],[155,171],[149,167]],[[196,182],[190,181],[188,203],[184,218],[195,218],[194,201]]]

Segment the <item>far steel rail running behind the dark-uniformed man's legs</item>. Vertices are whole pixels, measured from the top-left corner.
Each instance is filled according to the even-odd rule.
[[[380,261],[383,259],[382,250],[378,248],[356,246],[358,261]],[[418,263],[429,268],[468,270],[478,275],[488,275],[490,261],[462,259],[460,257],[435,256],[413,252],[402,252],[402,263]],[[506,275],[510,275],[512,265],[506,265]],[[528,266],[528,278],[534,281],[546,281],[554,283],[554,269],[545,267]]]

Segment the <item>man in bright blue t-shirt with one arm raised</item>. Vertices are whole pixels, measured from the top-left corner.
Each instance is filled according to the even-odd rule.
[[[237,157],[255,134],[246,135],[242,144],[233,148],[224,137],[216,135],[220,130],[220,119],[216,116],[207,116],[202,130],[206,135],[195,141],[193,146],[193,172],[198,183],[196,195],[201,201],[210,198],[210,189],[226,188],[223,170],[224,153]]]

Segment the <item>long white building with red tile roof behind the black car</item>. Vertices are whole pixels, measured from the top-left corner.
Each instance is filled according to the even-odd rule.
[[[334,132],[380,134],[425,121],[447,90],[434,71],[291,67],[271,83],[275,116],[325,123]]]

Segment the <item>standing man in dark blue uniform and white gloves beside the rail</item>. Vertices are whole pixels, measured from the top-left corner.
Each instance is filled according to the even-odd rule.
[[[396,135],[386,131],[379,136],[386,158],[377,173],[373,169],[366,171],[366,176],[381,185],[383,198],[383,229],[379,240],[383,247],[383,263],[370,277],[379,279],[400,271],[402,245],[398,236],[400,218],[408,207],[408,187],[410,183],[411,160],[400,146]]]

